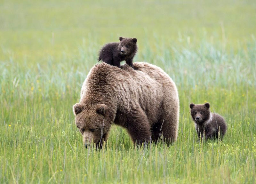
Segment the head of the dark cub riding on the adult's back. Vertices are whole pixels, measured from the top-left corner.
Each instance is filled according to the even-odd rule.
[[[121,54],[129,55],[137,51],[137,38],[123,38],[121,36],[119,40],[119,50],[121,50]]]

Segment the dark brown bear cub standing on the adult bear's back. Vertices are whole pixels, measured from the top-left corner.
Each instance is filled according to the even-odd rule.
[[[104,45],[99,52],[99,61],[121,68],[121,61],[133,68],[132,59],[137,52],[137,38],[119,37],[120,42]]]

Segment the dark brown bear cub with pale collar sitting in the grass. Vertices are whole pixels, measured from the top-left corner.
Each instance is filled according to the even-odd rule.
[[[227,131],[227,124],[222,116],[210,111],[210,104],[193,104],[189,105],[190,114],[195,121],[195,128],[198,138],[204,137],[205,140],[220,138]],[[220,131],[220,134],[219,134]]]

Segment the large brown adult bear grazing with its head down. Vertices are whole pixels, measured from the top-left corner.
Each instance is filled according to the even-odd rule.
[[[92,67],[73,106],[84,144],[102,145],[113,123],[127,129],[133,142],[167,143],[177,139],[179,97],[175,83],[159,67],[134,63],[117,68],[106,63]]]

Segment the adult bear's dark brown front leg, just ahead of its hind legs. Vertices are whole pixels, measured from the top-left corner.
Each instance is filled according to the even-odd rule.
[[[127,116],[126,128],[134,144],[141,145],[151,140],[150,124],[145,112],[140,108],[134,108]]]

